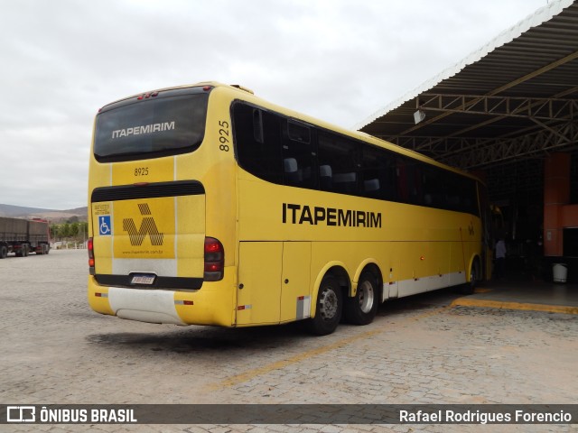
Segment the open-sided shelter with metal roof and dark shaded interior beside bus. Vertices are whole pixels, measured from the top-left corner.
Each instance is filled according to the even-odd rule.
[[[552,2],[357,128],[486,181],[508,263],[578,281],[578,4]]]

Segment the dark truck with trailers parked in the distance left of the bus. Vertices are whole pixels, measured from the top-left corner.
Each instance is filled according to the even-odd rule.
[[[0,259],[5,259],[8,253],[18,257],[26,257],[28,253],[48,254],[50,239],[47,221],[0,217]]]

